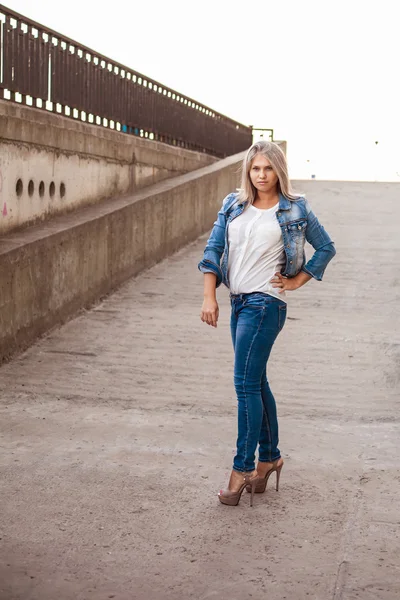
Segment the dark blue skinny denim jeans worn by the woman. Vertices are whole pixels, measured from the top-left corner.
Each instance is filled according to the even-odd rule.
[[[231,334],[235,351],[234,383],[238,401],[236,471],[253,471],[259,461],[280,457],[275,398],[267,379],[267,361],[286,320],[283,300],[254,292],[231,294]]]

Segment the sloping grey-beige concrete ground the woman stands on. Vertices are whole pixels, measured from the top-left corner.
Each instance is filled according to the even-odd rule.
[[[216,496],[236,400],[203,238],[0,369],[1,600],[400,597],[400,184],[300,187],[338,254],[270,360],[279,493]]]

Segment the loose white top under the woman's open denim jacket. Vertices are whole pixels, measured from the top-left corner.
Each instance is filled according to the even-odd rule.
[[[279,204],[256,208],[252,204],[228,226],[228,277],[232,294],[264,292],[286,302],[285,292],[270,284],[286,263],[280,225]]]

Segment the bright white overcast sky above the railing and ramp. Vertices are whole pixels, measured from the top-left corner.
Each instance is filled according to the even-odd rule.
[[[6,5],[242,123],[273,128],[288,142],[293,179],[400,181],[398,0]]]

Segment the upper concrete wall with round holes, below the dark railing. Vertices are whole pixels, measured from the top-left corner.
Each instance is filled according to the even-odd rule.
[[[215,158],[0,101],[0,235]]]

